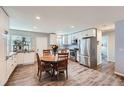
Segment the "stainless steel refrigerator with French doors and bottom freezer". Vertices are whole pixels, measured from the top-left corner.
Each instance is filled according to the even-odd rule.
[[[97,67],[96,37],[85,37],[79,40],[79,62],[90,68]]]

